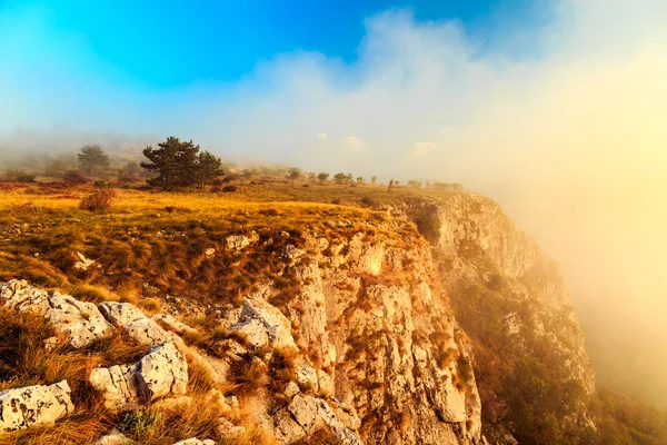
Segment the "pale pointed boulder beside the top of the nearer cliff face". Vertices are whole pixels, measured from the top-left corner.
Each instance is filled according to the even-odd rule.
[[[237,324],[230,332],[239,333],[253,347],[296,348],[291,324],[275,306],[263,299],[247,298]]]

